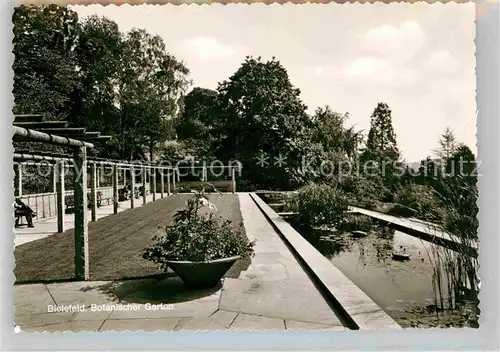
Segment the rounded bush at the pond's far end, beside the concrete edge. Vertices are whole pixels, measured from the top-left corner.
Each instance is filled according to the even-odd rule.
[[[300,188],[288,204],[291,211],[298,213],[298,224],[306,227],[329,225],[338,228],[349,206],[340,189],[314,183]]]

